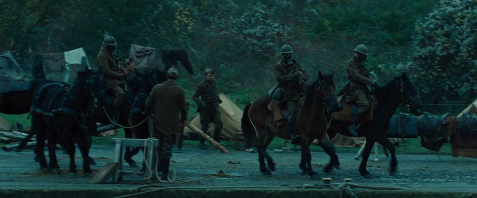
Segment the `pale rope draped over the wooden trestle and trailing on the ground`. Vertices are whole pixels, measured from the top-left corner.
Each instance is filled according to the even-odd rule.
[[[148,145],[153,145],[152,144],[152,140],[155,140],[156,138],[147,138],[145,141],[144,141],[144,150],[149,150],[148,149]],[[149,142],[151,142],[149,144]],[[159,153],[156,152],[156,163],[155,163],[155,167],[154,167],[154,173],[155,175],[153,176],[152,175],[152,167],[149,163],[147,163],[147,154],[146,152],[143,152],[144,153],[144,157],[143,157],[143,161],[144,161],[144,164],[146,164],[146,168],[148,169],[148,176],[146,178],[144,178],[144,180],[151,180],[152,177],[156,177],[156,179],[158,180],[158,182],[162,182],[162,183],[188,183],[188,182],[197,182],[197,183],[202,183],[199,179],[197,178],[192,178],[192,179],[188,179],[188,180],[178,180],[176,179],[176,171],[174,169],[172,169],[171,171],[169,171],[169,174],[167,174],[167,180],[162,180],[160,177],[159,177],[159,172],[157,171],[157,165],[159,164]],[[152,162],[152,160],[151,160]],[[170,176],[174,175],[173,178],[171,178]]]

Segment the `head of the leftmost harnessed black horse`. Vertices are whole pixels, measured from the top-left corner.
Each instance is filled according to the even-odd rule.
[[[105,79],[99,72],[86,68],[78,72],[78,80],[75,84],[83,85],[84,97],[90,99],[94,108],[105,103]],[[87,101],[84,101],[87,102]]]

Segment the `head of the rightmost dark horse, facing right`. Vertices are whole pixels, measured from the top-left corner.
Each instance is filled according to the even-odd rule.
[[[407,77],[407,74],[403,72],[400,77],[396,78],[395,82],[400,102],[408,106],[413,114],[417,116],[421,115],[421,96],[419,96],[414,84]]]

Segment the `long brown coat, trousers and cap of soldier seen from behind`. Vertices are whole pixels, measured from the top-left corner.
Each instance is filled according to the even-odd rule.
[[[171,71],[172,69],[169,69]],[[177,74],[177,70],[175,70]],[[187,120],[187,105],[184,89],[175,80],[155,85],[146,100],[145,113],[154,112],[154,137],[159,139],[158,153],[160,154],[159,170],[166,178],[169,161],[180,122]],[[179,117],[180,113],[180,117]]]

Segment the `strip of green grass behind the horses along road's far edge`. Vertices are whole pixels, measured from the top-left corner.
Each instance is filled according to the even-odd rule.
[[[194,109],[195,110],[195,109]],[[27,120],[26,117],[28,114],[21,114],[21,115],[8,115],[8,114],[3,114],[0,113],[0,116],[4,117],[5,120],[8,122],[14,124],[14,123],[20,123],[23,126],[30,126],[30,120]],[[93,137],[93,144],[94,145],[107,145],[107,146],[112,146],[113,141],[112,138],[124,138],[124,131],[120,129],[118,133],[115,136],[112,137]],[[224,146],[229,149],[233,150],[235,147],[235,142],[234,141],[222,141]],[[284,140],[281,138],[275,138],[270,145],[268,146],[268,149],[273,150],[273,149],[282,149],[283,148],[283,143]],[[5,145],[4,143],[0,143],[0,146]],[[192,140],[184,140],[183,147],[194,147],[198,148],[198,142],[197,141],[192,141]],[[292,146],[293,148],[293,146]],[[337,147],[336,152],[358,152],[358,147],[354,148],[345,148],[345,147]],[[317,152],[322,152],[323,149],[319,146],[312,145],[311,146],[312,151],[317,151]],[[383,151],[380,150],[380,153]],[[398,154],[441,154],[441,155],[450,155],[452,154],[452,149],[451,149],[451,144],[446,143],[438,152],[434,152],[431,150],[428,150],[424,147],[421,146],[421,141],[419,138],[417,139],[405,139],[405,146],[404,144],[400,144],[400,146],[396,147],[396,153]]]

